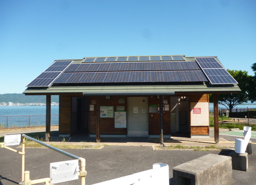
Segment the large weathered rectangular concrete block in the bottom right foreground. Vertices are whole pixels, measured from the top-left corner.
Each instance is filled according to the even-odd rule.
[[[172,168],[174,185],[221,185],[232,180],[232,158],[208,154]]]

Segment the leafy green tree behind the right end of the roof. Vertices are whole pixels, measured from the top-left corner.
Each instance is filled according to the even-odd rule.
[[[242,70],[227,70],[228,73],[235,78],[238,82],[238,86],[241,89],[239,93],[230,93],[230,94],[219,94],[219,104],[227,107],[229,112],[232,112],[232,109],[241,103],[247,102],[249,100],[248,87],[252,83],[252,76],[248,75],[247,71]],[[210,95],[210,102],[212,102],[212,95]]]

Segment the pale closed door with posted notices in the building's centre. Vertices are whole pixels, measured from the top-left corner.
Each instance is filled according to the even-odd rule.
[[[148,97],[128,97],[128,137],[148,137]]]

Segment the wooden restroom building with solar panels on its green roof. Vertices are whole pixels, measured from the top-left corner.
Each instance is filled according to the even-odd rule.
[[[60,136],[99,141],[209,137],[209,94],[216,109],[218,94],[239,91],[216,56],[165,55],[55,60],[23,93],[46,95],[46,133],[51,95],[59,95]]]

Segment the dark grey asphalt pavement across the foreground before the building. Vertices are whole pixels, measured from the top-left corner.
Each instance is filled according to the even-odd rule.
[[[212,132],[211,132],[212,136]],[[220,135],[225,140],[234,142],[235,136]],[[252,143],[256,139],[252,138]],[[256,144],[252,144],[249,155],[248,171],[233,171],[229,184],[255,185],[256,182]],[[16,150],[21,150],[13,146]],[[86,185],[111,180],[144,170],[152,169],[154,163],[169,165],[170,184],[172,168],[209,153],[228,155],[231,150],[188,151],[188,150],[153,150],[152,146],[105,145],[102,149],[63,149],[86,159]],[[30,179],[50,177],[50,163],[70,160],[69,157],[48,148],[26,148],[25,170],[30,171]],[[21,181],[21,155],[5,148],[0,148],[0,185],[13,185]],[[79,180],[59,183],[62,185],[80,184]]]

